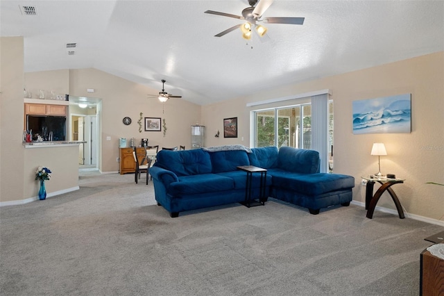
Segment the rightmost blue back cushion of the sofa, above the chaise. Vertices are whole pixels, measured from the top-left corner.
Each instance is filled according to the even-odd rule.
[[[319,172],[319,152],[309,149],[280,147],[278,167],[289,172],[314,174]]]

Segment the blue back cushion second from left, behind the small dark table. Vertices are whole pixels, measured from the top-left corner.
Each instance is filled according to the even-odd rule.
[[[250,165],[247,152],[244,150],[208,152],[210,154],[213,173],[232,172],[238,165]]]

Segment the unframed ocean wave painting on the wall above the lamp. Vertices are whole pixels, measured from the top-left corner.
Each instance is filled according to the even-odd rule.
[[[353,101],[353,133],[410,133],[411,94]]]

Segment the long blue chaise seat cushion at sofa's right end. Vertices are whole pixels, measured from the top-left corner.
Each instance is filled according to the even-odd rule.
[[[273,176],[273,187],[295,190],[305,195],[322,195],[355,187],[355,178],[345,174],[301,174],[280,169],[271,169],[268,173]]]

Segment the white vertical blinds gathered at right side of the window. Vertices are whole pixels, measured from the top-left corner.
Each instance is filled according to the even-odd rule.
[[[311,149],[319,152],[321,172],[328,172],[328,94],[311,97]]]

